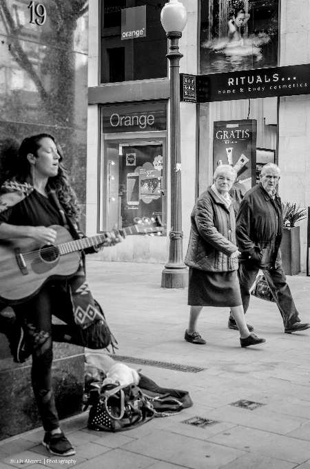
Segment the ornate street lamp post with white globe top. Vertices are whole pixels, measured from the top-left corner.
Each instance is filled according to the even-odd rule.
[[[178,39],[187,22],[187,12],[178,0],[170,0],[161,11],[161,24],[169,38],[170,66],[170,174],[171,231],[169,259],[162,272],[163,288],[185,288],[188,271],[183,261],[182,194],[180,163],[180,59]]]

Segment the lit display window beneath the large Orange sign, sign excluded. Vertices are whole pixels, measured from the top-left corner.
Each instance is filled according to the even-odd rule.
[[[101,230],[165,219],[165,142],[105,141]]]

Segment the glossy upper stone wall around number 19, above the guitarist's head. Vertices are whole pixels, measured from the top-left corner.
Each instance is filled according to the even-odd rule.
[[[65,164],[84,208],[87,0],[65,6],[43,1],[42,26],[30,23],[28,4],[1,1],[0,143],[53,134],[65,150]]]

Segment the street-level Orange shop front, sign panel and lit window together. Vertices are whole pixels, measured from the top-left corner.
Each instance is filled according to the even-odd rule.
[[[101,108],[99,230],[166,212],[166,101]]]

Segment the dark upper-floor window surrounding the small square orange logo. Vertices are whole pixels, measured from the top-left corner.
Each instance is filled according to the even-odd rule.
[[[142,6],[145,34],[122,39],[122,10]],[[167,77],[166,54],[167,37],[157,0],[101,0],[101,83]]]

